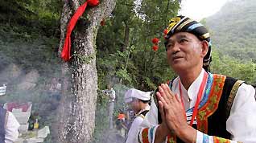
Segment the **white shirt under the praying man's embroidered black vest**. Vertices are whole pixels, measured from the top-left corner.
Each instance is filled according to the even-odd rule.
[[[184,100],[184,108],[192,108],[195,106],[197,92],[200,88],[200,83],[203,80],[204,69],[200,72],[200,76],[191,84],[188,91],[181,86]],[[179,80],[177,77],[172,84],[171,91],[180,95]],[[205,88],[205,87],[204,87]],[[230,110],[230,115],[226,121],[226,129],[232,134],[232,140],[242,141],[243,143],[256,142],[256,100],[255,90],[248,84],[242,84],[238,90],[233,105]],[[189,100],[190,99],[190,102]],[[151,104],[151,110],[148,112],[145,120],[142,122],[142,128],[151,128],[158,125],[157,107]],[[152,142],[155,140],[155,131]],[[202,143],[203,133],[197,131],[196,143]]]

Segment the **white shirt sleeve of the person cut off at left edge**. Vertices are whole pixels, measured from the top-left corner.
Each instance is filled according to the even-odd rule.
[[[7,123],[6,123],[6,137],[5,143],[13,143],[19,137],[19,122],[16,120],[14,114],[7,112]]]

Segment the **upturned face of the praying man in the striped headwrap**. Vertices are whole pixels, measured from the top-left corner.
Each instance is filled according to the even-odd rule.
[[[179,32],[167,40],[167,62],[175,72],[189,70],[203,62],[203,42],[188,32]]]

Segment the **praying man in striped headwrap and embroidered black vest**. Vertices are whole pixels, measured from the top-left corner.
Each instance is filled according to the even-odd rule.
[[[255,90],[241,80],[211,74],[209,32],[190,18],[172,18],[167,62],[178,75],[161,84],[142,122],[138,142],[256,142]]]

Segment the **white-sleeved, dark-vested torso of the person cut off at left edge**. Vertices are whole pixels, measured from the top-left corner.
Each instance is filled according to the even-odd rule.
[[[0,143],[13,143],[19,137],[19,122],[15,116],[0,107]]]

